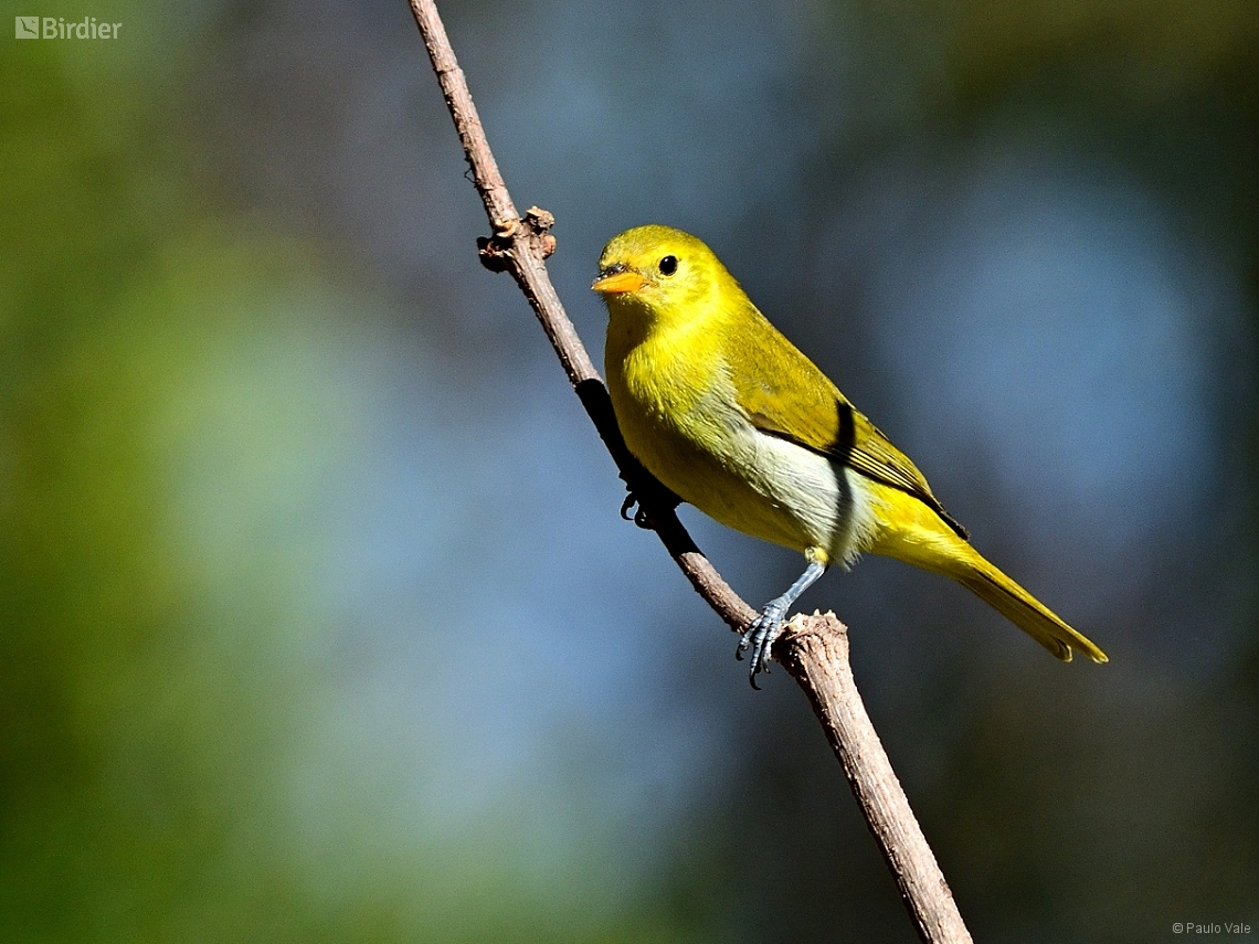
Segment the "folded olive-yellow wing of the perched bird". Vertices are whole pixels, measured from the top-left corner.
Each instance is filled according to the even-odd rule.
[[[764,318],[753,308],[754,317]],[[773,325],[763,345],[728,346],[735,400],[760,432],[840,459],[864,476],[906,492],[932,509],[961,537],[966,529],[932,493],[905,453],[849,403],[835,384]],[[803,373],[803,376],[802,376]]]

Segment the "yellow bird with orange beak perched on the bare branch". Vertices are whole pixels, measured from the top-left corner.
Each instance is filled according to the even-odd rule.
[[[923,473],[752,303],[711,249],[669,227],[626,230],[592,286],[630,452],[723,525],[805,554],[799,579],[739,642],[752,686],[796,599],[862,551],[944,574],[1063,661],[1105,653],[990,564]]]

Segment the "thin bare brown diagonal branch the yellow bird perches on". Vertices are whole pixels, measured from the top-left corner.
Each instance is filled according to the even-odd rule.
[[[494,235],[477,240],[481,262],[491,271],[510,272],[516,279],[582,405],[621,469],[621,477],[638,500],[643,522],[656,531],[714,612],[731,629],[743,632],[757,612],[739,598],[695,546],[674,512],[676,497],[638,464],[621,438],[607,388],[564,313],[546,272],[544,261],[555,249],[555,238],[548,232],[554,218],[536,206],[524,216],[516,214],[434,0],[409,3],[490,218]],[[797,615],[774,649],[777,658],[805,690],[826,730],[870,832],[896,879],[919,936],[927,944],[967,944],[971,935],[852,680],[847,629],[832,613],[825,617]]]

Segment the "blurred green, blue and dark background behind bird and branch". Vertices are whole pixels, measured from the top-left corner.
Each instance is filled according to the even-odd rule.
[[[5,9],[123,25],[0,55],[0,939],[914,940],[478,267],[405,4]],[[442,11],[597,360],[602,244],[697,233],[1110,655],[803,602],[976,939],[1259,929],[1259,4]]]

